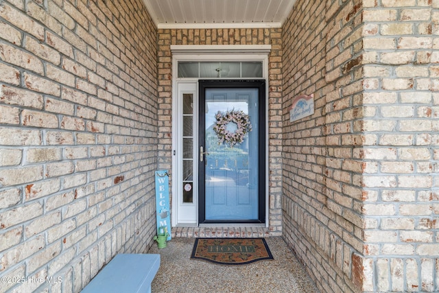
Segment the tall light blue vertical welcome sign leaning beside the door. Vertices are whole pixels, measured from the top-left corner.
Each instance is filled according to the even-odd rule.
[[[171,240],[171,213],[169,211],[169,174],[166,170],[156,171],[157,235],[168,233],[168,241]]]

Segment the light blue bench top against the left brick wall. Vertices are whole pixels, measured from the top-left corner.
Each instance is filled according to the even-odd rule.
[[[150,293],[159,267],[160,255],[116,255],[81,292]]]

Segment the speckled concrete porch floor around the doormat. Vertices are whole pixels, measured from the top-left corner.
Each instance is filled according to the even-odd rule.
[[[190,259],[193,238],[173,238],[161,249],[154,244],[149,253],[159,253],[161,265],[152,282],[152,292],[318,292],[281,237],[265,240],[274,260],[245,266],[220,266]]]

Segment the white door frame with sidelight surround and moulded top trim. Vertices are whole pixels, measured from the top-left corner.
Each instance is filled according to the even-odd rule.
[[[171,226],[198,226],[198,135],[193,140],[193,204],[182,203],[182,106],[179,100],[183,93],[193,93],[193,132],[198,133],[198,80],[200,78],[178,78],[178,61],[261,61],[263,64],[263,79],[265,79],[265,161],[268,161],[268,54],[271,45],[171,45],[172,53],[172,210]],[[206,78],[203,78],[204,80]],[[225,79],[225,78],[223,78]],[[230,80],[230,78],[226,78]],[[233,79],[233,78],[232,78]],[[235,78],[243,80],[243,78]],[[254,79],[254,78],[249,78]],[[217,78],[215,78],[217,80]],[[196,111],[196,112],[195,112]],[[268,227],[269,202],[268,202],[268,164],[265,166],[265,226]],[[197,176],[195,176],[197,175]],[[189,219],[187,215],[192,214]],[[182,220],[182,218],[184,218]],[[238,225],[236,225],[238,226]],[[248,225],[250,226],[250,224]]]

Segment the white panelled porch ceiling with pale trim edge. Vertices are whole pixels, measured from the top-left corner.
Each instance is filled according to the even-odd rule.
[[[143,0],[158,28],[281,27],[296,0]]]

